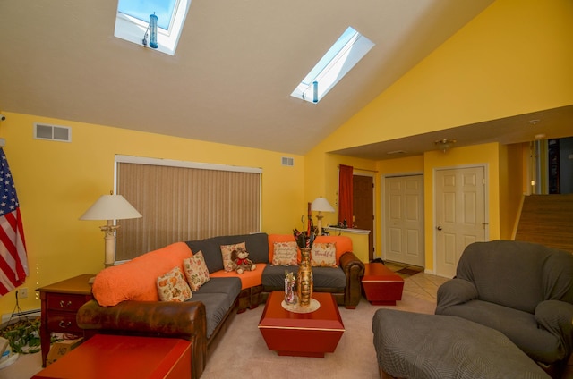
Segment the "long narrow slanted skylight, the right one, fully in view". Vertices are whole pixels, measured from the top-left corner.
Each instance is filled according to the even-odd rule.
[[[318,103],[356,63],[360,62],[372,46],[374,43],[370,39],[365,38],[354,28],[348,27],[290,96]]]

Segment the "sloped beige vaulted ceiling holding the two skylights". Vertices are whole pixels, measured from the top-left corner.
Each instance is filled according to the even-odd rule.
[[[115,1],[2,1],[0,109],[305,154],[492,1],[193,0],[175,56],[115,38]],[[318,105],[290,97],[348,26],[376,46]]]

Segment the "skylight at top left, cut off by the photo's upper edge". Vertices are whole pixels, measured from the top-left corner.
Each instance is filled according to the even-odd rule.
[[[191,0],[119,0],[115,17],[115,37],[143,45],[150,15],[158,16],[157,50],[175,55],[179,36]],[[150,37],[146,38],[149,42]]]

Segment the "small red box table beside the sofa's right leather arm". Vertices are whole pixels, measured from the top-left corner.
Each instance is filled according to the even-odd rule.
[[[404,279],[381,263],[364,265],[362,287],[373,306],[395,306],[402,299]]]

